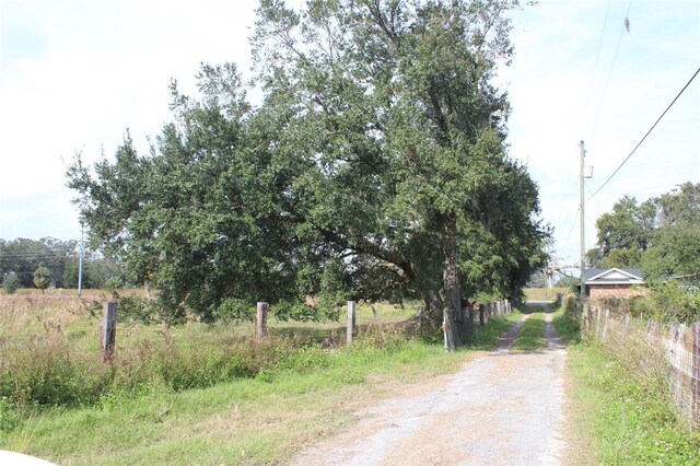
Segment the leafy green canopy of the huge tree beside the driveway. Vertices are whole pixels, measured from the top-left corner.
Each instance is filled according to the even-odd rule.
[[[517,295],[542,259],[537,186],[492,78],[516,1],[262,0],[258,107],[232,63],[172,84],[149,154],[68,171],[91,241],[173,312]]]

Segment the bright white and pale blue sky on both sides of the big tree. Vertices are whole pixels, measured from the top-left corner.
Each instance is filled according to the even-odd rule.
[[[127,129],[145,151],[171,119],[171,79],[194,92],[201,62],[249,77],[256,4],[0,0],[0,238],[79,238],[65,186],[73,156],[113,156]],[[580,141],[588,199],[700,67],[700,0],[542,0],[511,18],[515,57],[495,80],[512,106],[510,156],[539,186],[558,264],[574,265]],[[700,78],[587,200],[585,247],[616,200],[684,182],[700,183]]]

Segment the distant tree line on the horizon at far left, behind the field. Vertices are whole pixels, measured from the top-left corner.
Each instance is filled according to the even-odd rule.
[[[114,261],[91,251],[85,252],[83,259],[83,288],[103,288],[108,280],[118,280],[119,270]],[[44,288],[78,288],[79,260],[75,240],[0,238],[0,278],[5,289],[34,288],[37,270],[39,283],[47,283]]]

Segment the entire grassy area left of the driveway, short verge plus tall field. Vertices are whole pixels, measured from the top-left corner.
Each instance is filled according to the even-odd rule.
[[[278,463],[476,353],[446,353],[438,333],[407,340],[381,324],[415,310],[375,305],[360,306],[352,347],[338,323],[272,319],[264,343],[250,324],[120,324],[107,365],[98,299],[0,296],[0,450],[71,465]],[[509,326],[492,321],[475,349]]]

